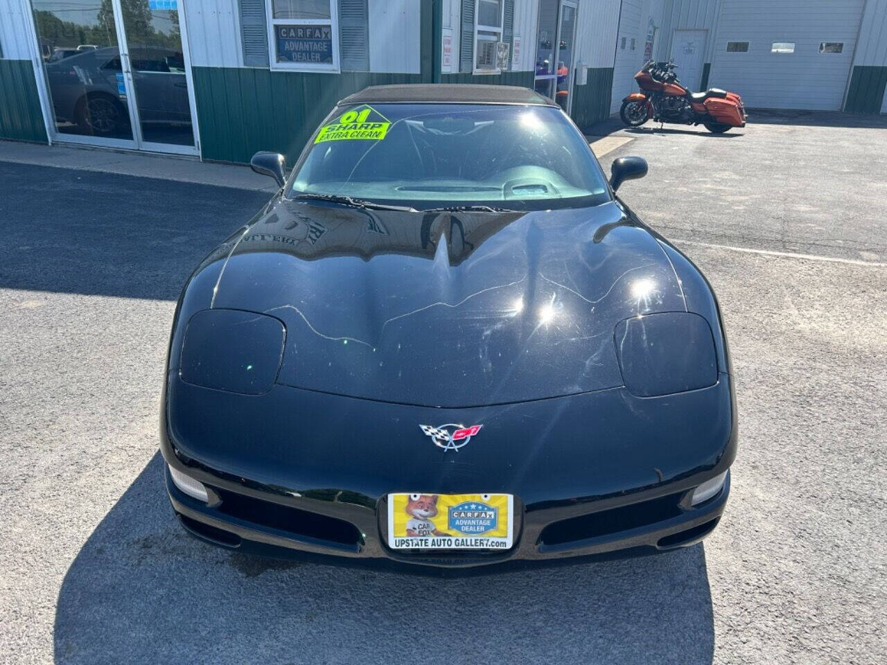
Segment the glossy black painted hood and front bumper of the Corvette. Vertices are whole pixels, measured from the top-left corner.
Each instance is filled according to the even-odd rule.
[[[655,283],[655,297],[632,297],[638,280]],[[538,311],[552,294],[560,320],[543,330]],[[515,314],[519,296],[525,305]],[[266,394],[180,378],[186,324],[208,308],[285,323],[283,364]],[[717,382],[633,396],[616,363],[615,327],[667,311],[706,320]],[[491,339],[503,322],[514,332]],[[397,365],[411,345],[397,380],[385,364]],[[510,372],[498,354],[531,362]],[[246,551],[436,567],[648,552],[666,549],[663,537],[679,546],[706,535],[729,491],[728,479],[718,497],[688,504],[689,490],[726,471],[736,451],[717,301],[695,265],[618,200],[547,213],[425,215],[278,194],[189,279],[168,362],[161,450],[169,464],[210,487],[349,521],[361,534],[343,547],[239,522],[168,479],[180,516],[237,534]],[[483,432],[447,453],[419,428],[444,422],[483,423]],[[396,491],[512,493],[516,544],[494,554],[392,552],[381,516]],[[556,546],[540,540],[555,521],[666,495],[679,496],[670,520]],[[693,537],[681,541],[681,533]]]

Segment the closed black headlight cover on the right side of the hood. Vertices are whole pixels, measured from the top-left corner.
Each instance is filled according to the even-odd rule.
[[[698,314],[663,312],[620,321],[616,356],[628,391],[656,397],[713,386],[718,358],[708,322]]]

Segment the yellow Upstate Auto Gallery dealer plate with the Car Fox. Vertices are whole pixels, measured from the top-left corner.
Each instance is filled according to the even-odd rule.
[[[514,529],[510,494],[389,494],[394,550],[507,550]]]

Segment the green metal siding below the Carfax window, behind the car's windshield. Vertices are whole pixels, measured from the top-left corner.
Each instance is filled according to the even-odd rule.
[[[260,150],[292,164],[335,103],[368,85],[418,83],[420,74],[272,72],[192,67],[203,159],[245,163]]]

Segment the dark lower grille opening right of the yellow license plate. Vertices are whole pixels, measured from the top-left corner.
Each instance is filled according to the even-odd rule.
[[[542,529],[539,543],[560,545],[587,538],[596,538],[644,527],[658,521],[668,520],[680,514],[678,506],[683,492],[670,494],[637,504],[623,505],[607,511],[590,512],[587,515],[571,517],[549,524]]]

